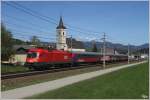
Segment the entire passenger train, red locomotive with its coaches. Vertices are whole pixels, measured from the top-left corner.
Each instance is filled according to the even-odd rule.
[[[123,54],[103,54],[99,52],[71,52],[64,50],[48,50],[35,48],[28,50],[25,66],[30,69],[42,70],[54,67],[78,66],[80,64],[95,64],[106,62],[127,61]]]

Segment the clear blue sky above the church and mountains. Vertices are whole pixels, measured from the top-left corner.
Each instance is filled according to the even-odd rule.
[[[14,8],[13,2],[2,2],[2,22],[14,37],[22,40],[36,35],[42,41],[56,41],[56,23],[61,15],[68,28],[67,36],[72,35],[77,40],[101,41],[105,32],[107,41],[114,43],[140,45],[148,42],[147,1],[16,3],[49,17],[49,21],[42,20]]]

